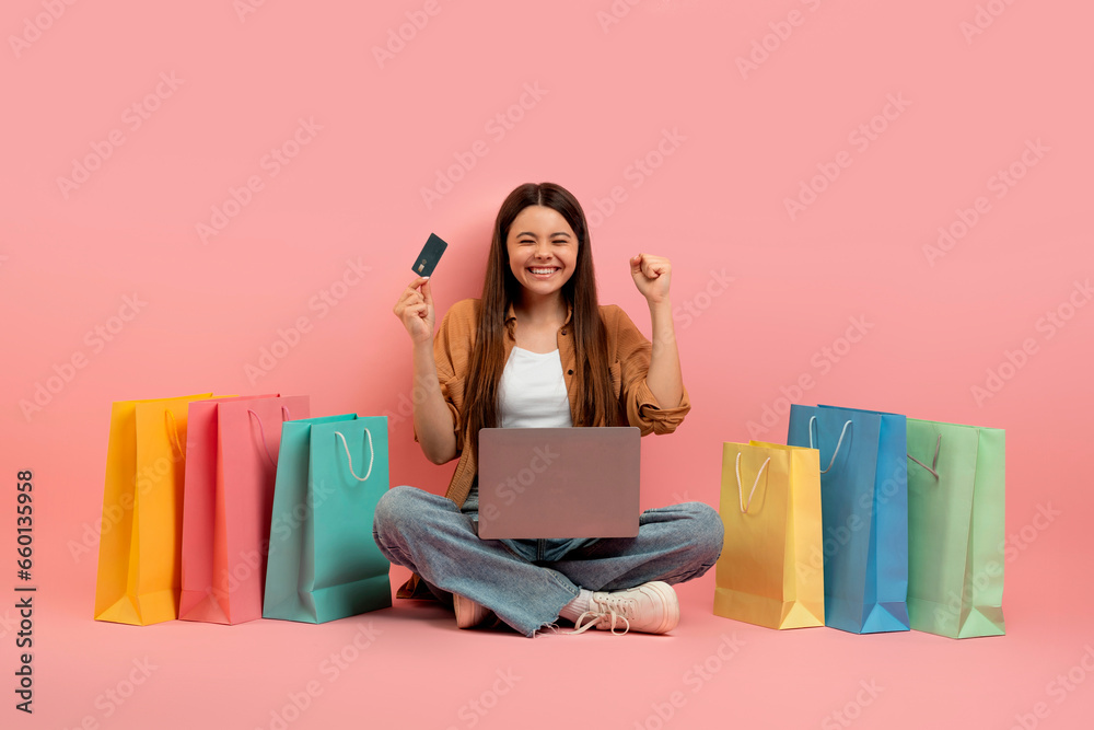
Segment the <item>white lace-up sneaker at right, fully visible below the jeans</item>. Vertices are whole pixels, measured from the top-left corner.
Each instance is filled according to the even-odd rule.
[[[613,634],[629,630],[643,634],[667,634],[680,623],[680,604],[672,586],[654,580],[625,591],[594,591],[589,611],[578,616],[571,634],[592,627],[607,628]],[[616,626],[622,626],[621,631]]]

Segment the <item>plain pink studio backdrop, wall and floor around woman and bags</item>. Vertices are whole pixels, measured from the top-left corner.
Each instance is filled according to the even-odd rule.
[[[1085,727],[1094,306],[1075,282],[1094,269],[1094,10],[439,0],[427,15],[418,0],[270,0],[241,16],[244,2],[9,0],[0,13],[0,473],[34,470],[38,587],[33,717],[12,708],[14,598],[0,602],[4,727],[271,728],[278,714],[291,728]],[[620,18],[605,24],[613,8]],[[406,13],[428,23],[381,67],[373,47]],[[742,72],[753,53],[761,62]],[[539,91],[513,107],[527,88]],[[891,99],[900,107],[876,116]],[[499,114],[511,128],[491,123]],[[301,119],[322,128],[300,132],[307,142],[289,143],[299,154],[272,175],[265,155]],[[856,131],[871,124],[873,139]],[[662,143],[666,130],[676,141]],[[468,154],[475,165],[427,205],[421,188]],[[97,169],[62,186],[89,155]],[[637,172],[642,159],[656,167]],[[1006,186],[998,174],[1012,164],[1022,176]],[[785,199],[824,170],[839,174],[817,178],[792,219]],[[253,176],[261,187],[203,243],[197,224]],[[443,490],[453,464],[429,464],[409,419],[394,417],[409,413],[410,378],[392,306],[430,231],[451,244],[438,317],[478,296],[493,216],[528,181],[558,182],[602,213],[601,300],[647,333],[627,258],[672,259],[694,408],[674,436],[643,440],[645,506],[717,506],[721,443],[783,440],[789,401],[1004,428],[1017,548],[1008,635],[760,629],[711,615],[713,571],[682,587],[671,638],[527,641],[457,631],[451,614],[405,602],[323,626],[92,621],[97,542],[72,545],[100,517],[112,401],[276,391],[311,395],[314,415],[386,413],[392,483]],[[961,232],[980,197],[976,222],[929,260],[940,227]],[[365,274],[344,279],[348,262]],[[127,296],[147,303],[112,321]],[[295,346],[248,378],[301,317]],[[853,344],[840,339],[851,317],[869,325]],[[110,341],[89,336],[112,324]],[[1002,367],[1002,387],[978,402],[973,389],[1023,343],[1022,367]],[[68,371],[73,356],[84,367]],[[25,416],[20,403],[58,372],[70,380]],[[811,387],[795,391],[803,376]],[[765,408],[772,425],[749,433]],[[4,495],[0,586],[13,596]],[[1035,521],[1039,507],[1058,514]],[[352,639],[370,625],[358,656]],[[723,661],[733,635],[744,644]],[[336,673],[338,652],[353,661]],[[107,699],[128,694],[144,659],[156,668],[147,681]],[[1066,690],[1057,675],[1069,671]],[[309,683],[319,691],[296,712],[288,697]],[[833,712],[845,710],[841,723]]]

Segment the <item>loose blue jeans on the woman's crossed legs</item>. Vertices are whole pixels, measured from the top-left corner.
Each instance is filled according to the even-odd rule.
[[[458,593],[525,636],[555,623],[579,588],[682,583],[722,552],[722,519],[702,502],[645,510],[637,537],[480,540],[477,520],[451,499],[398,486],[380,499],[372,534],[388,560],[421,576],[438,598]]]

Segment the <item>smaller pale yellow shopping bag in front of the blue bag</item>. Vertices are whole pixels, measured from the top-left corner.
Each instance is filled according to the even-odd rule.
[[[768,628],[824,626],[817,451],[722,444],[719,512],[714,613]]]

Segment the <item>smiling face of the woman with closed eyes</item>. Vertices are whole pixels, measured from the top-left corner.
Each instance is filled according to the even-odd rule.
[[[509,266],[525,293],[552,294],[573,276],[578,236],[554,208],[528,206],[517,213],[505,245]]]

